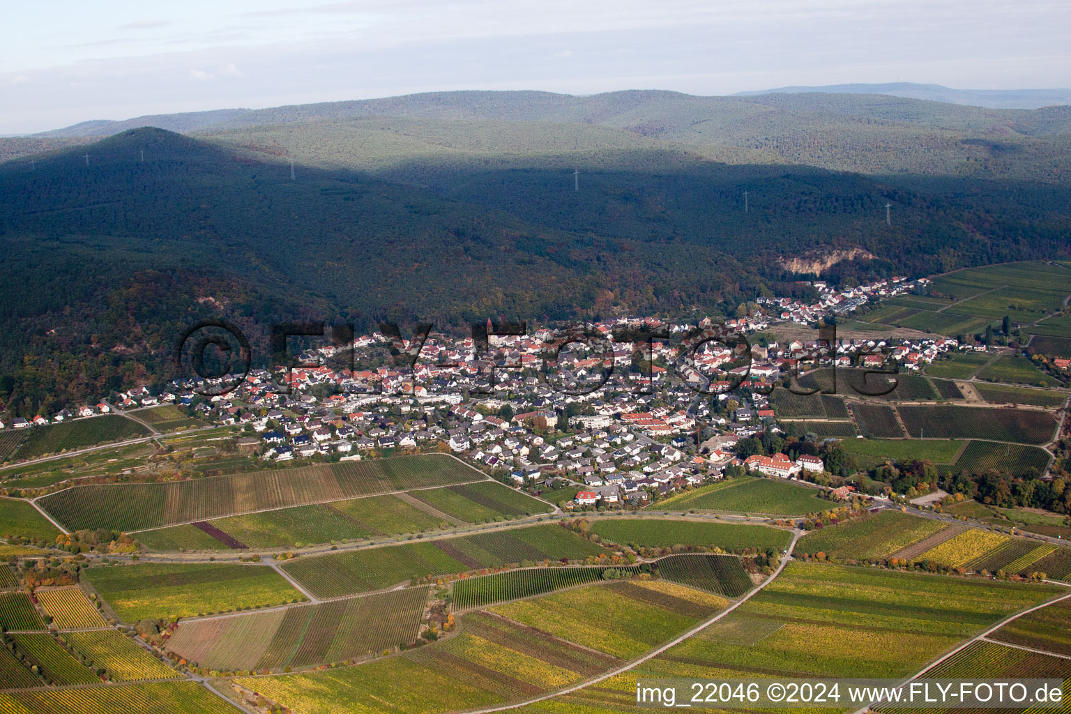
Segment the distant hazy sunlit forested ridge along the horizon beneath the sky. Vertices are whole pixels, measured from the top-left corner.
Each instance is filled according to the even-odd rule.
[[[974,176],[1071,185],[1071,107],[1036,110],[855,93],[694,96],[621,91],[572,96],[549,92],[429,92],[379,100],[270,109],[226,109],[93,121],[36,137],[0,139],[0,156],[26,155],[42,139],[75,140],[150,125],[211,133],[241,142],[265,126],[304,133],[323,122],[361,120],[437,126],[449,141],[458,125],[539,123],[546,139],[572,149],[590,127],[636,143],[660,142],[735,164],[788,163],[872,174]],[[624,139],[620,139],[624,140]],[[665,147],[670,148],[670,147]]]

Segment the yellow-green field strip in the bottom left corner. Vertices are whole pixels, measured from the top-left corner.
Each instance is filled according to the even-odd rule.
[[[122,687],[0,694],[0,712],[12,714],[233,714],[235,707],[196,682],[148,682]]]

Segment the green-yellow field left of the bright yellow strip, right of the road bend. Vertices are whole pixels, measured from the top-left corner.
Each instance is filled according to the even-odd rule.
[[[899,511],[883,511],[812,531],[800,538],[796,550],[812,556],[824,552],[836,560],[878,560],[945,527],[941,521]]]

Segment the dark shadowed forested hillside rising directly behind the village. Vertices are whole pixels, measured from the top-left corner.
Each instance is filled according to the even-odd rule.
[[[798,289],[786,255],[864,247],[880,259],[839,275],[925,274],[1067,256],[1071,234],[1058,185],[734,166],[625,145],[402,152],[373,174],[360,151],[302,163],[317,163],[310,141],[304,154],[254,151],[140,128],[0,165],[0,408],[160,378],[172,340],[202,317],[256,340],[273,320],[306,318],[461,328],[731,313]]]

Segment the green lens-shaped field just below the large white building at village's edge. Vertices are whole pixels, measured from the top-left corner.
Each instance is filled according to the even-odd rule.
[[[726,511],[802,516],[829,507],[818,491],[784,481],[745,476],[700,486],[647,506],[649,511]]]

